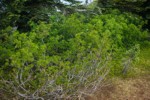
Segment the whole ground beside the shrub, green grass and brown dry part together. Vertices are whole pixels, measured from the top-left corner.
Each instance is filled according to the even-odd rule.
[[[150,48],[141,51],[139,63],[128,78],[114,78],[86,100],[150,100]]]

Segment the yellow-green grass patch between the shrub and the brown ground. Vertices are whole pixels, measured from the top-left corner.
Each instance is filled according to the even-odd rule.
[[[118,67],[120,68],[120,67]],[[118,71],[117,71],[118,70]],[[133,78],[150,75],[150,46],[142,47],[137,61],[130,65],[127,74],[122,74],[122,69],[116,69],[115,73],[111,72],[111,77]],[[114,76],[113,76],[114,75]]]

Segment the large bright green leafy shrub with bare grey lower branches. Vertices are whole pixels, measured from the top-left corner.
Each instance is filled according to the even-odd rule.
[[[120,59],[128,62],[135,57],[134,45],[146,34],[126,14],[117,14],[53,16],[50,23],[31,22],[27,33],[11,27],[2,30],[3,94],[17,99],[71,99],[96,90],[111,69],[123,70]]]

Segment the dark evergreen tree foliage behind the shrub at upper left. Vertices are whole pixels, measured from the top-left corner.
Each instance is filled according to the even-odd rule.
[[[70,5],[79,3],[75,0],[65,1]],[[1,0],[0,6],[0,29],[13,26],[21,31],[29,31],[29,21],[48,21],[52,13],[58,10],[64,13],[69,5],[60,0]]]

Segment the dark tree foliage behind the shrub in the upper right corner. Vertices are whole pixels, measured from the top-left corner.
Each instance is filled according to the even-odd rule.
[[[97,6],[138,14],[148,20],[147,27],[150,28],[150,0],[98,0]]]

